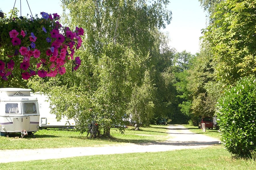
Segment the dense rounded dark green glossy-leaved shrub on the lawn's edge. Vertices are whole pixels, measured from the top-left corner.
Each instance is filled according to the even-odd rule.
[[[256,146],[256,80],[239,80],[224,91],[217,104],[217,122],[225,148],[238,157],[251,157]]]

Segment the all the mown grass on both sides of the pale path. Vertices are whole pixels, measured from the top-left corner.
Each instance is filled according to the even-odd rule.
[[[203,133],[197,127],[185,125],[191,131]],[[40,130],[36,139],[26,137],[0,137],[1,149],[15,144],[14,148],[24,148],[32,145],[33,148],[42,147],[75,147],[75,146],[100,146],[105,144],[140,143],[159,141],[167,138],[167,126],[152,125],[150,128],[141,128],[134,131],[132,127],[121,134],[116,129],[111,130],[112,139],[87,139],[86,134],[80,135],[77,131],[59,131],[56,129]],[[204,135],[218,138],[218,131],[209,130]],[[69,139],[70,138],[70,139]],[[66,141],[63,141],[66,140]],[[73,142],[72,142],[73,141]],[[4,146],[3,142],[8,143]],[[55,144],[51,144],[51,142]],[[59,143],[58,143],[59,142]],[[81,143],[79,143],[81,142]],[[6,144],[5,143],[5,144]],[[29,143],[29,144],[25,144]],[[35,144],[33,144],[35,143]],[[0,160],[1,162],[1,160]],[[80,169],[113,169],[113,170],[255,170],[254,160],[233,158],[223,146],[214,145],[208,148],[183,149],[166,152],[145,152],[129,154],[81,156],[73,158],[36,160],[27,162],[0,163],[0,169],[5,170],[80,170]]]

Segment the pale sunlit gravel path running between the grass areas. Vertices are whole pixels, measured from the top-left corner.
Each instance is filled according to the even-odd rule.
[[[133,152],[160,152],[176,149],[202,148],[219,144],[218,139],[190,132],[184,126],[168,126],[170,138],[164,142],[125,144],[102,147],[46,148],[0,150],[0,162],[46,160],[75,156],[122,154]]]

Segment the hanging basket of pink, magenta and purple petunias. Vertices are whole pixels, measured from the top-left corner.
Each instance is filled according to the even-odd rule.
[[[8,80],[15,70],[23,79],[38,75],[55,77],[64,74],[64,64],[71,62],[72,71],[81,61],[73,58],[84,34],[82,28],[71,31],[59,23],[59,15],[41,12],[42,18],[0,18],[0,76]]]

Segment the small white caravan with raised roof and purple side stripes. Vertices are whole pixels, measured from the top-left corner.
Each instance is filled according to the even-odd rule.
[[[31,89],[0,88],[1,136],[8,137],[9,133],[19,132],[24,137],[38,131],[38,102],[36,97],[30,96],[30,91]]]

